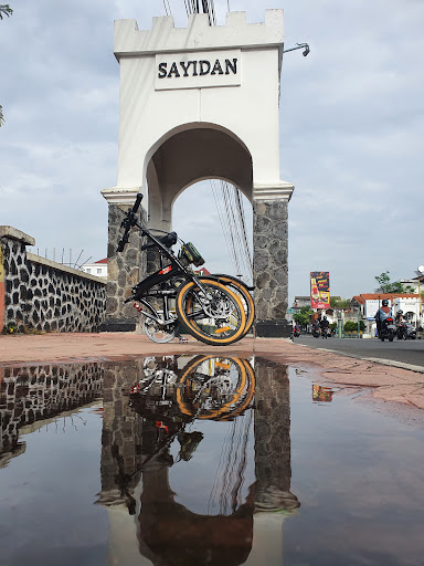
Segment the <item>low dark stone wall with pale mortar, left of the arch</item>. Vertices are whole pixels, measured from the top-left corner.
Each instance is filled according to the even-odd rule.
[[[105,318],[106,281],[26,252],[33,238],[0,227],[0,332],[97,332]]]

